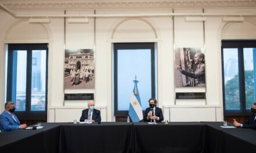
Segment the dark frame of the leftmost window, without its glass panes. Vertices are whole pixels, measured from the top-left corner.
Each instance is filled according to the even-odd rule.
[[[26,110],[15,111],[20,120],[47,120],[48,110],[48,43],[10,43],[8,44],[8,67],[7,67],[7,85],[6,101],[12,101],[13,96],[13,51],[27,50],[27,72],[26,72]],[[31,84],[32,84],[32,50],[46,50],[45,61],[45,110],[31,111]],[[15,103],[16,104],[16,103]]]

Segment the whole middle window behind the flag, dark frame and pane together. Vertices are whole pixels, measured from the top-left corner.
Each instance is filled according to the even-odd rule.
[[[114,43],[114,115],[127,115],[135,75],[142,109],[155,97],[155,43]]]

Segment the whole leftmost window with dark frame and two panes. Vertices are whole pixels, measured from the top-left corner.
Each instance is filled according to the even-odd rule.
[[[47,119],[47,44],[9,44],[6,100],[22,120]]]

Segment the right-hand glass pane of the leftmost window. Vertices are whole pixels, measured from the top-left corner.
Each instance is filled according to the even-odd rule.
[[[46,50],[32,51],[31,111],[45,111]]]

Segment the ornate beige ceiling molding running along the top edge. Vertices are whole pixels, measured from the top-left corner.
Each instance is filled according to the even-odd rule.
[[[256,0],[0,0],[10,10],[256,8]]]

